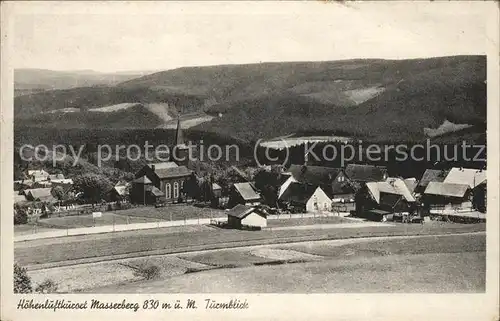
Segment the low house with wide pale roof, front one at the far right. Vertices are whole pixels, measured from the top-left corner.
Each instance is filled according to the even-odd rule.
[[[472,189],[468,184],[430,182],[422,197],[424,208],[431,214],[471,211]]]

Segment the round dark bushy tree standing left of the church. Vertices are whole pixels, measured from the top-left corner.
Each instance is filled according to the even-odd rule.
[[[84,174],[74,179],[76,190],[83,192],[83,198],[92,203],[98,203],[106,198],[108,192],[113,188],[110,180],[98,174]]]

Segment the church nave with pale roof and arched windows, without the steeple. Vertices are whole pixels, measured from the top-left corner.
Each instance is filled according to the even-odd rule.
[[[167,202],[177,202],[183,197],[184,182],[189,179],[191,173],[192,171],[186,166],[164,162],[145,165],[135,177],[147,177],[151,184],[164,194]],[[135,181],[132,182],[132,185],[134,184],[136,184]]]

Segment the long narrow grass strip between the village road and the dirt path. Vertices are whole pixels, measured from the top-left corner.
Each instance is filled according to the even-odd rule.
[[[103,256],[177,253],[234,246],[278,244],[291,241],[344,239],[367,236],[433,235],[484,231],[485,224],[399,224],[328,230],[240,231],[198,227],[186,233],[177,228],[137,230],[101,235],[82,235],[57,239],[16,242],[15,260],[21,265],[64,264],[65,261],[96,259]],[[143,252],[143,253],[140,253]],[[59,262],[59,263],[57,263]]]

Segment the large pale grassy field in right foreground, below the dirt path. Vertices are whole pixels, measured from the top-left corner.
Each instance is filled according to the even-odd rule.
[[[209,252],[183,258],[219,267],[228,266],[228,262],[235,265],[168,279],[99,287],[88,292],[483,292],[484,245],[485,235],[372,239],[369,242],[353,239],[347,244],[342,241],[312,242],[285,247],[282,251],[322,253],[320,260],[278,265],[255,265],[258,262],[252,256],[256,252],[253,249]],[[271,246],[269,250],[278,248],[283,246]],[[367,249],[371,251],[368,253]]]

